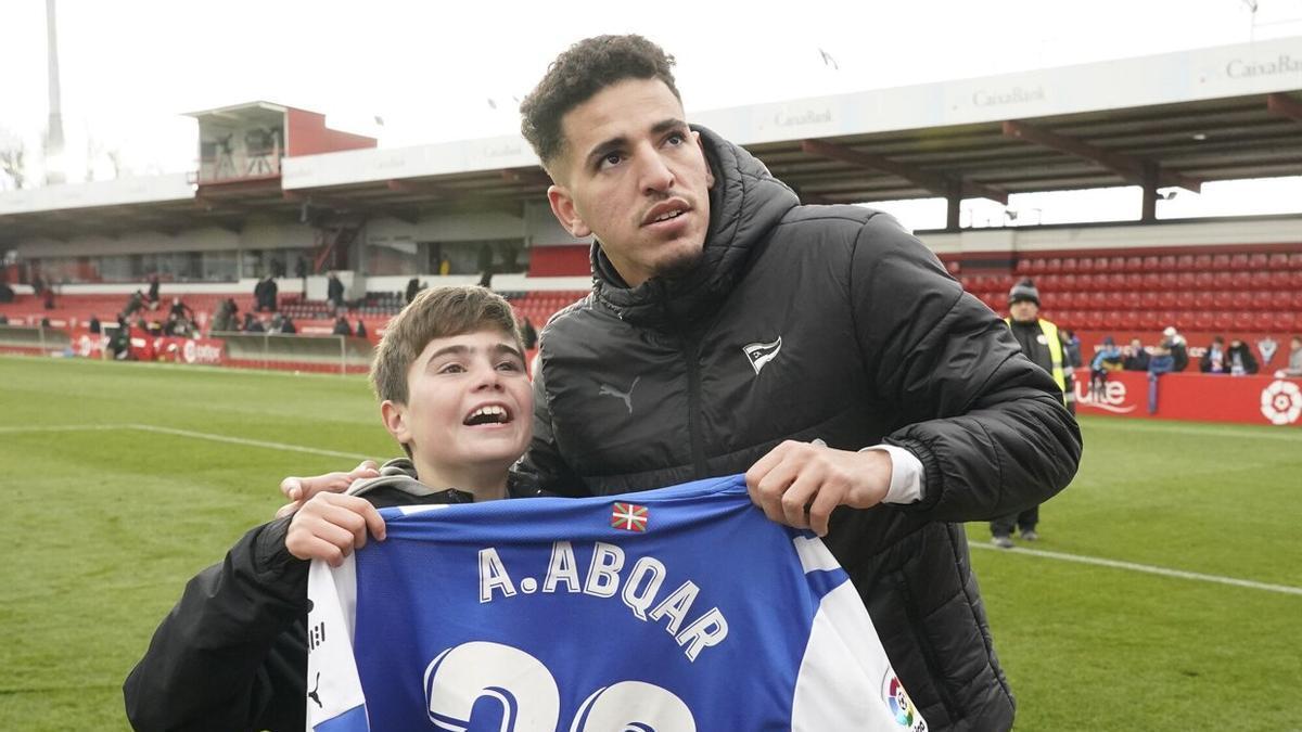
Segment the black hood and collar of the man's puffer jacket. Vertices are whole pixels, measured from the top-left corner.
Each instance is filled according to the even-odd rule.
[[[707,128],[700,133],[715,176],[710,189],[710,228],[700,262],[681,277],[651,277],[628,287],[600,242],[592,244],[592,293],[624,320],[659,324],[682,320],[723,300],[750,260],[755,245],[799,198],[750,152]]]

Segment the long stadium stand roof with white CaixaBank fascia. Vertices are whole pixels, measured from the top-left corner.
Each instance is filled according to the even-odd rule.
[[[999,77],[694,112],[814,203],[1302,175],[1302,36]],[[270,182],[270,185],[268,185]],[[518,135],[286,158],[221,201],[96,204],[59,186],[0,194],[0,244],[297,218],[303,203],[414,219],[518,207],[548,185]],[[89,184],[92,186],[126,185]]]

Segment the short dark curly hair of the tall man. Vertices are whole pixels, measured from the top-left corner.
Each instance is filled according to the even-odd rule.
[[[552,61],[519,106],[519,132],[551,169],[565,148],[561,117],[603,89],[625,79],[658,78],[681,102],[673,56],[641,35],[598,35],[579,40]]]

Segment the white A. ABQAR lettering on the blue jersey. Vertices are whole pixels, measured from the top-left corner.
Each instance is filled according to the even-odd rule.
[[[667,633],[682,646],[687,660],[697,660],[704,649],[716,646],[728,637],[728,619],[717,607],[693,613],[693,604],[700,589],[691,580],[677,589],[661,593],[668,574],[663,561],[642,556],[624,572],[624,550],[605,542],[595,542],[592,560],[586,577],[579,577],[578,560],[570,542],[553,542],[551,561],[542,587],[533,577],[519,580],[518,591],[526,595],[542,591],[582,593],[596,598],[624,600],[633,615],[643,623],[664,624]],[[517,582],[493,547],[479,550],[479,602],[488,603],[517,595]]]

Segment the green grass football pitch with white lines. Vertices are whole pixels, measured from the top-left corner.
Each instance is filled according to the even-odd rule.
[[[974,550],[1017,729],[1302,729],[1302,430],[1082,429],[1034,548],[1273,589]],[[393,453],[361,378],[0,358],[0,729],[125,729],[155,625],[280,478]]]

